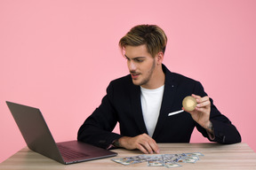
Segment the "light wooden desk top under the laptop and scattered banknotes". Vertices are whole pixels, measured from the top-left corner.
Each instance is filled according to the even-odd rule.
[[[256,169],[256,153],[246,143],[223,145],[218,143],[159,143],[161,154],[201,152],[195,164],[182,163],[181,167],[172,169]],[[140,151],[127,151],[124,149],[115,150],[118,155],[112,158],[124,158],[140,155]],[[139,163],[130,166],[123,166],[113,162],[111,158],[102,158],[72,165],[62,165],[50,158],[30,151],[27,147],[18,151],[11,158],[0,164],[2,170],[36,170],[36,169],[93,169],[93,170],[120,170],[120,169],[165,169],[164,166],[147,166],[147,163]]]

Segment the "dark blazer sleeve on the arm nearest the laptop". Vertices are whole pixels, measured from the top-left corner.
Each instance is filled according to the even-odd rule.
[[[111,102],[113,93],[114,90],[110,82],[107,95],[103,97],[100,106],[92,112],[92,115],[79,128],[77,134],[78,141],[107,149],[111,143],[122,136],[112,133],[117,123],[116,110]]]

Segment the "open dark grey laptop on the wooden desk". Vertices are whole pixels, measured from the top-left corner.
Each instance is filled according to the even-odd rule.
[[[72,164],[117,155],[116,152],[76,140],[55,143],[39,109],[7,101],[6,104],[20,128],[28,148],[45,157],[52,158],[62,164]]]

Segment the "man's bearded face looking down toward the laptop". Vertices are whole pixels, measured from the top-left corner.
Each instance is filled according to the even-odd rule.
[[[150,89],[150,80],[155,71],[156,59],[148,53],[146,45],[124,48],[127,66],[135,85]]]

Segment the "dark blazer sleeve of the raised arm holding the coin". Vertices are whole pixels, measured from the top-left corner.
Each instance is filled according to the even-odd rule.
[[[195,93],[201,97],[207,96],[204,92],[204,88],[200,82],[196,85]],[[212,142],[218,143],[241,143],[241,135],[237,131],[236,127],[231,123],[226,116],[220,113],[220,111],[213,104],[212,98],[211,101],[211,113],[210,120],[212,121],[213,131],[215,138],[211,140],[204,128],[196,123],[196,128],[201,132],[204,137],[207,137]]]

